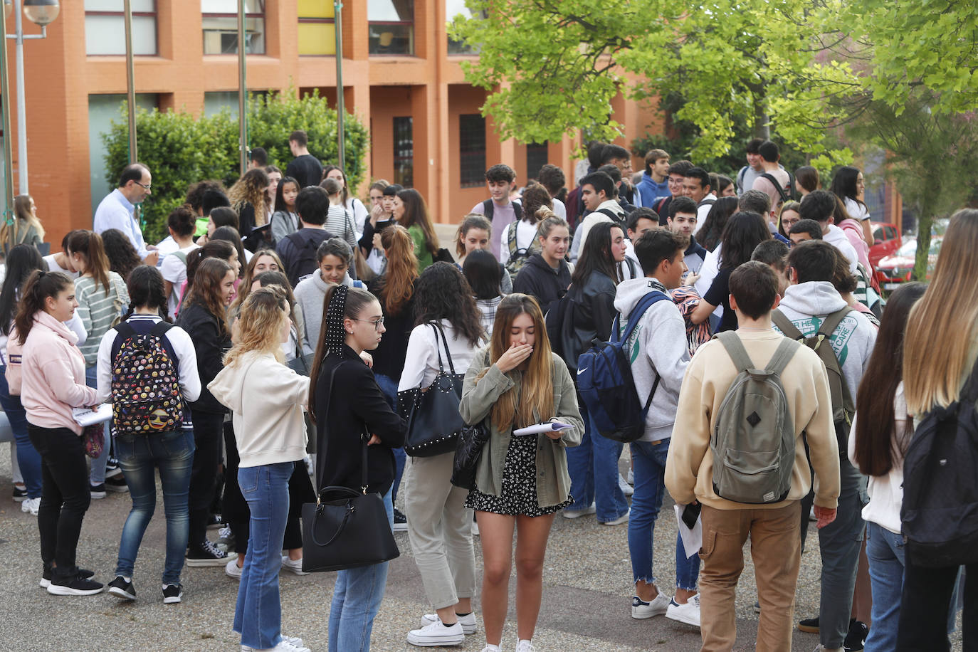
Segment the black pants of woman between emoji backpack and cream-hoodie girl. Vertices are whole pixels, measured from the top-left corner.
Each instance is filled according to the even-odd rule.
[[[190,538],[191,546],[207,538],[210,503],[217,488],[217,465],[221,461],[221,433],[224,414],[194,410],[194,467],[190,472]]]

